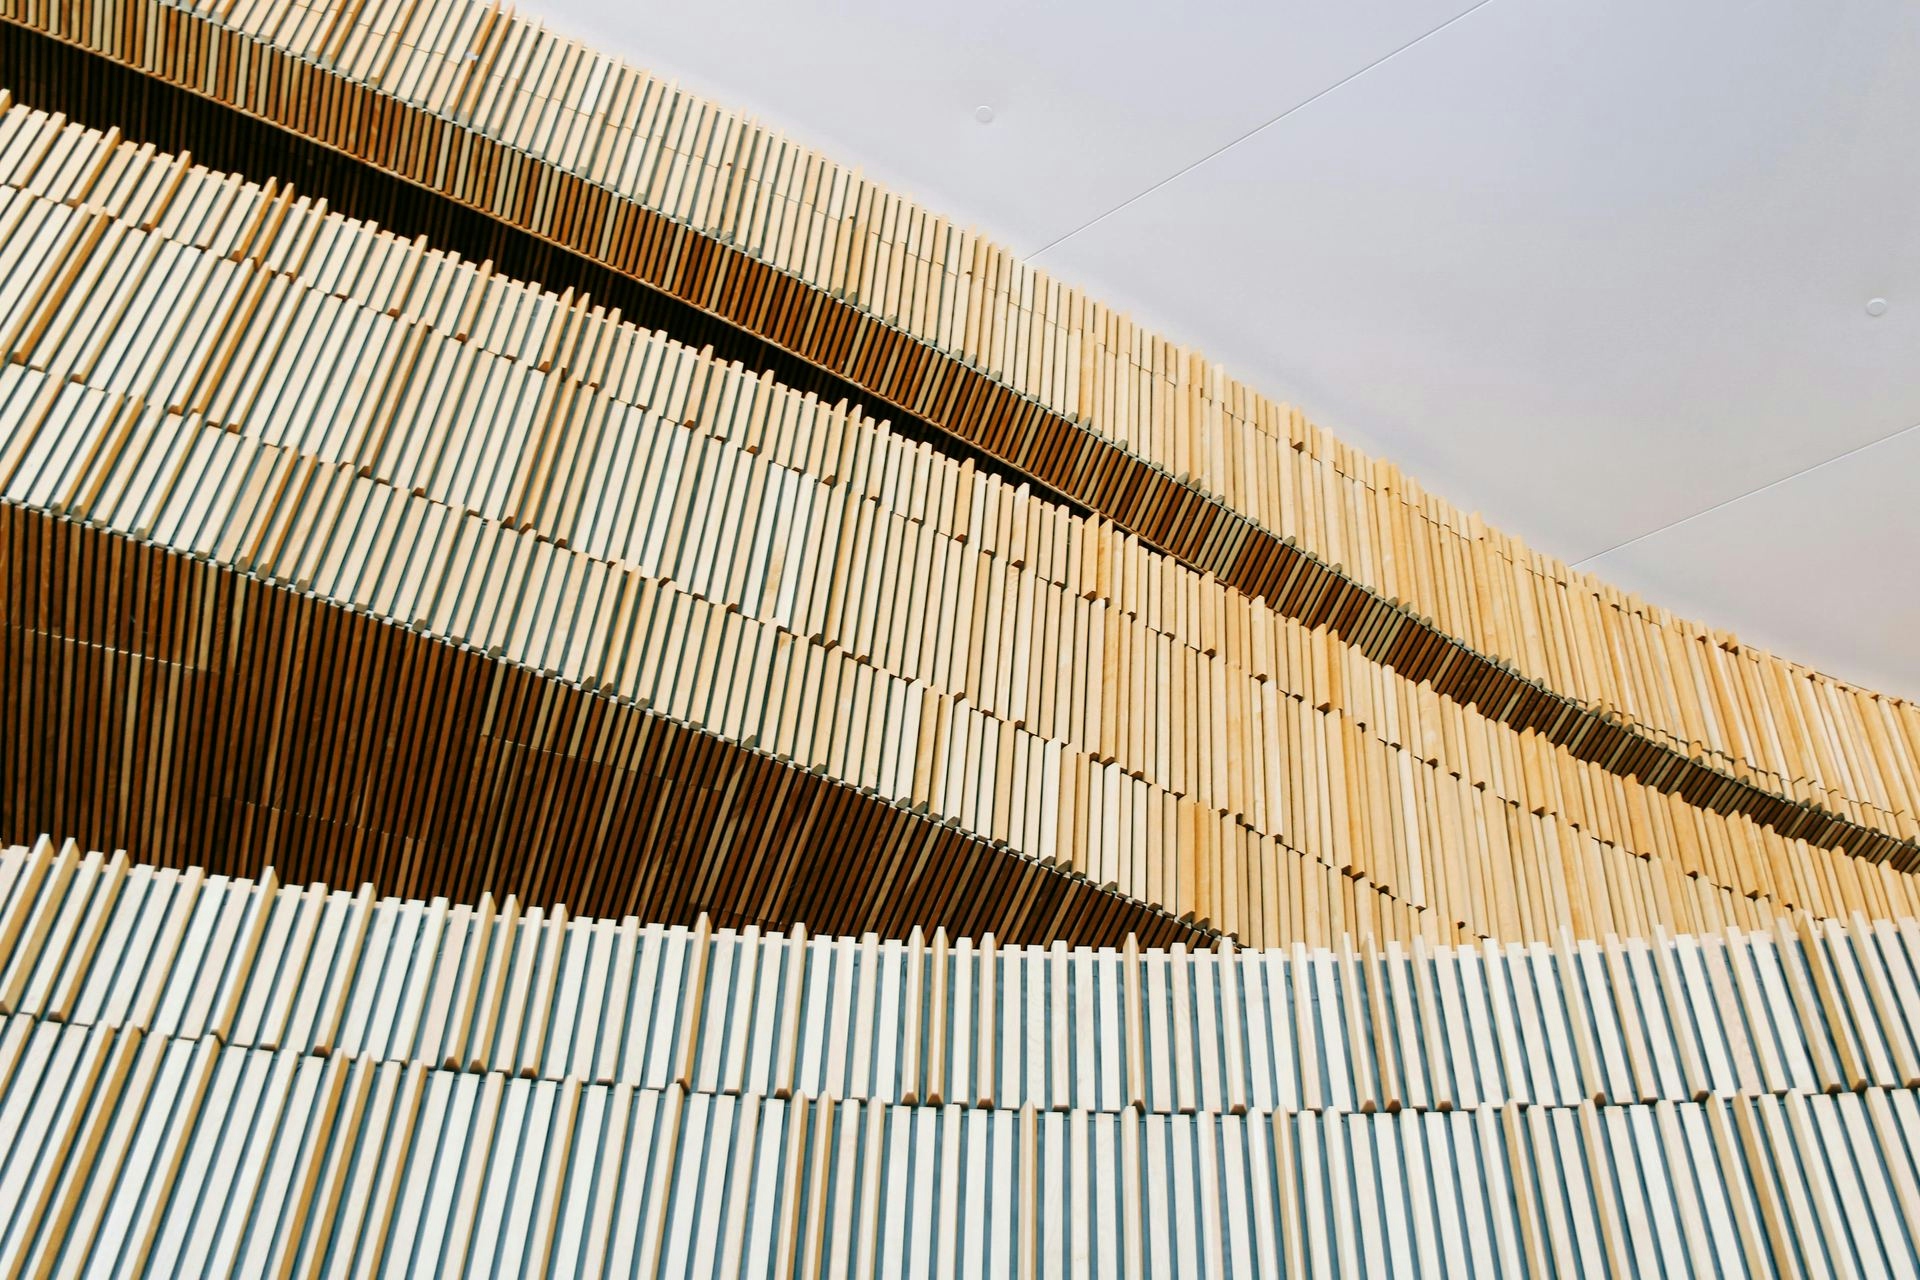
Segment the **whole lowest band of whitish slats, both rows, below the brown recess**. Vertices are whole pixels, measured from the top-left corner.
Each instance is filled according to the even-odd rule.
[[[1411,958],[641,929],[40,839],[0,850],[0,1265],[1907,1274],[1916,963],[1859,919]]]

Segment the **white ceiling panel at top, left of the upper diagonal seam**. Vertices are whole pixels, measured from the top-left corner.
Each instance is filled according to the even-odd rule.
[[[520,8],[1029,253],[1473,4]]]

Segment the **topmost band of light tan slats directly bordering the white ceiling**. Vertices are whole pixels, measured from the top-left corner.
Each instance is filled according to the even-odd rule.
[[[507,142],[534,169],[484,192],[474,175],[476,207],[511,221],[518,186],[551,167],[664,211],[1123,443],[1551,689],[1778,794],[1920,835],[1914,706],[1572,574],[979,236],[534,23],[472,0],[8,0],[0,15],[227,102],[265,92],[238,61],[257,40],[424,109],[455,154],[467,130]],[[134,31],[140,48],[125,48]],[[561,215],[536,200],[530,228]]]

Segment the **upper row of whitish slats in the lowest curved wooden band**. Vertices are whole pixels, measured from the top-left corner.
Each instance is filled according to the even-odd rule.
[[[0,852],[0,1013],[695,1092],[1398,1111],[1920,1086],[1920,923],[1217,952],[808,936]]]

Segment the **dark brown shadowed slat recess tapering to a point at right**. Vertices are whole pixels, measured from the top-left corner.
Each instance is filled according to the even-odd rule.
[[[6,827],[666,921],[1192,936],[632,702],[8,505],[0,608]]]

